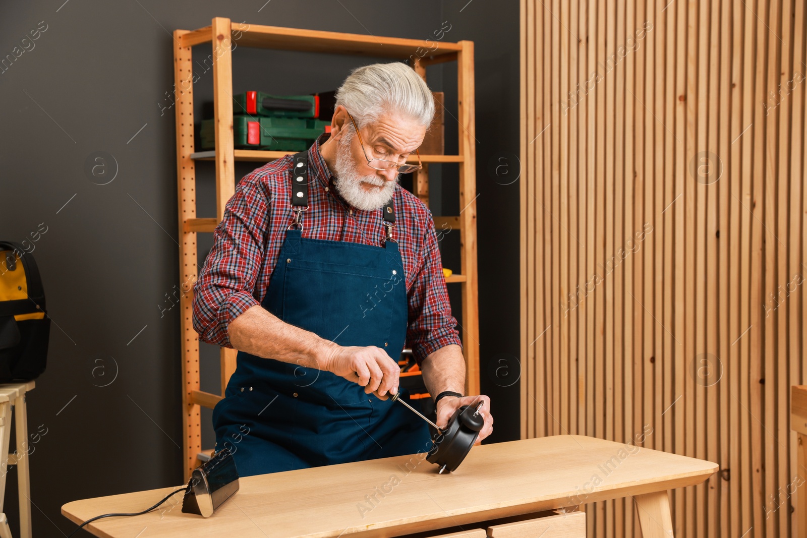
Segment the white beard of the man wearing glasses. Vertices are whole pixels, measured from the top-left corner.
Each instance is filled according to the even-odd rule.
[[[349,131],[349,134],[353,135],[353,132]],[[369,176],[359,175],[353,156],[350,155],[352,139],[353,136],[348,136],[340,140],[339,148],[337,148],[337,161],[333,167],[336,172],[333,185],[351,206],[364,211],[374,211],[390,201],[399,177],[396,176],[395,181],[386,181],[375,173]],[[381,186],[381,189],[364,190],[362,181],[370,183],[370,185]]]

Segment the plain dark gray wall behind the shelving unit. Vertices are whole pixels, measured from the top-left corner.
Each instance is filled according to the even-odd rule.
[[[164,107],[170,32],[214,16],[420,39],[449,21],[445,40],[475,41],[482,386],[494,399],[491,441],[518,438],[518,181],[505,185],[517,177],[515,0],[62,2],[0,11],[0,58],[27,48],[0,69],[0,238],[30,240],[47,227],[32,243],[52,318],[48,370],[27,400],[31,432],[47,428],[30,456],[36,536],[72,531],[60,512],[69,501],[182,483],[179,318],[176,307],[164,310],[179,284],[174,111]],[[37,27],[38,39],[23,42]],[[199,59],[208,53],[194,49]],[[237,48],[233,61],[236,91],[282,94],[333,89],[367,60]],[[201,113],[212,73],[198,69]],[[454,65],[428,76],[456,115]],[[446,120],[452,140],[457,127]],[[86,172],[95,152],[113,157],[105,185]],[[459,209],[451,166],[433,173],[435,215]],[[252,168],[239,163],[236,177]],[[199,215],[214,215],[212,165],[199,164],[198,176]],[[458,266],[455,240],[443,244],[449,267]],[[200,256],[209,248],[200,238]],[[202,354],[203,388],[215,390],[217,353]],[[205,446],[211,435],[207,427]],[[4,511],[16,534],[15,468],[8,480]]]

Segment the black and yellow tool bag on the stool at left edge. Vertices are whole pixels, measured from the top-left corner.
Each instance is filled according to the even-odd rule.
[[[50,318],[40,271],[23,245],[0,241],[0,383],[44,372]]]

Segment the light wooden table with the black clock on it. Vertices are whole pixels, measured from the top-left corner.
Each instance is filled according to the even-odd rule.
[[[164,510],[98,519],[86,528],[109,538],[436,536],[440,529],[474,529],[491,519],[633,496],[643,536],[651,538],[672,536],[667,490],[700,484],[717,471],[709,461],[586,436],[484,444],[443,475],[421,456],[240,478],[240,490],[208,519],[183,514],[177,494]],[[142,511],[177,487],[73,501],[61,512],[81,523],[108,512]]]

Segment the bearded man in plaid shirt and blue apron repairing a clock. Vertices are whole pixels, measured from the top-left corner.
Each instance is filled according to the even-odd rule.
[[[462,394],[429,208],[397,181],[420,168],[406,161],[433,114],[407,65],[354,69],[330,133],[254,170],[227,203],[193,322],[201,340],[239,350],[213,426],[241,476],[428,451],[426,423],[389,399],[404,343],[437,425],[481,399],[479,438],[491,434],[490,399]]]

